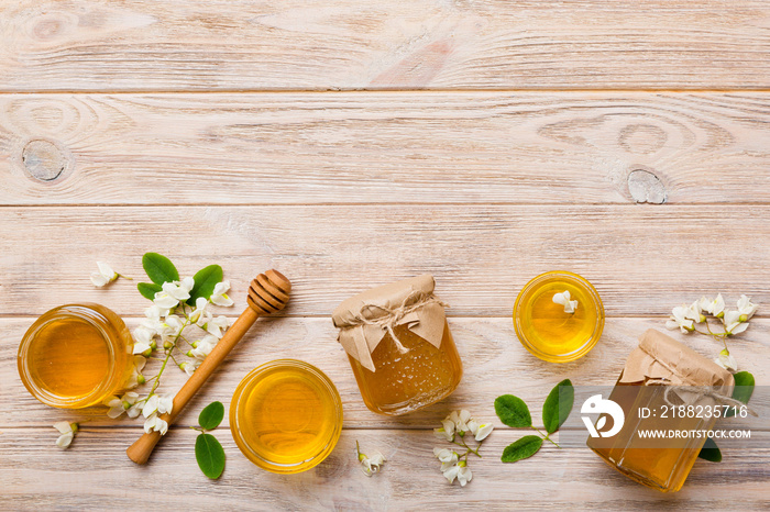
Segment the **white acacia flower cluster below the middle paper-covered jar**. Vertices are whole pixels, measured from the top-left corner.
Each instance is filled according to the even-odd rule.
[[[492,433],[493,428],[492,424],[479,423],[464,409],[452,411],[441,421],[441,427],[433,428],[433,434],[437,438],[465,448],[463,454],[458,454],[450,448],[433,448],[433,455],[441,463],[441,472],[449,480],[449,483],[454,482],[457,479],[461,487],[465,487],[465,483],[471,481],[473,472],[468,467],[469,455],[474,454],[481,458],[479,448],[481,448],[482,442]],[[470,437],[476,441],[474,448],[471,448],[465,442]]]

